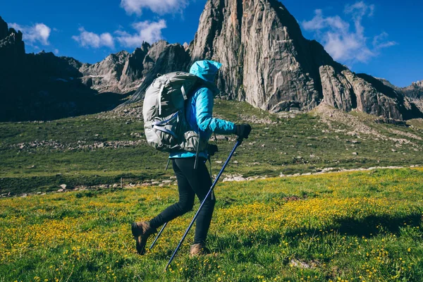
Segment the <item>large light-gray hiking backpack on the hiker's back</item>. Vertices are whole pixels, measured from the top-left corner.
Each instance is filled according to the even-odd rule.
[[[185,102],[203,80],[190,73],[161,75],[145,92],[142,115],[147,142],[164,152],[200,152],[208,140],[199,135],[185,120]]]

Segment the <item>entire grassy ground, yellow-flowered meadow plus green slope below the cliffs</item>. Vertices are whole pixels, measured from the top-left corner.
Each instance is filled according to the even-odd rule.
[[[216,99],[217,117],[253,128],[223,178],[259,179],[220,182],[213,255],[188,256],[192,231],[164,272],[194,212],[137,255],[130,223],[178,199],[141,111],[0,123],[0,282],[423,281],[423,168],[341,172],[421,165],[422,120],[391,125],[329,108],[276,115]],[[216,174],[235,137],[213,143]],[[339,172],[306,175],[321,171]],[[56,192],[61,184],[67,192]]]

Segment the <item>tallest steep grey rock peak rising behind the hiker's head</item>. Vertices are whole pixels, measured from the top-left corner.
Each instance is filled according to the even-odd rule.
[[[192,61],[223,63],[219,88],[270,111],[319,103],[309,42],[278,1],[211,0],[200,18]]]

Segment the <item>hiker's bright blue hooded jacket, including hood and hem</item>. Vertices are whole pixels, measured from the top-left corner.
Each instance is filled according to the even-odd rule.
[[[235,124],[230,121],[223,121],[219,118],[213,118],[214,92],[211,89],[214,86],[214,78],[217,71],[221,68],[221,63],[215,61],[197,61],[195,62],[190,73],[197,75],[206,82],[210,83],[210,87],[200,87],[189,99],[187,109],[185,109],[188,123],[192,130],[200,134],[201,140],[209,140],[212,133],[217,134],[233,134]],[[171,153],[170,158],[189,158],[195,157],[193,152],[176,152]],[[207,152],[199,152],[198,157],[207,159]]]

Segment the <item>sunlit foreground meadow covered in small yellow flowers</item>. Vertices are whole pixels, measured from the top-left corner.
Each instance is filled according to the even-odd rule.
[[[190,259],[191,232],[167,272],[194,213],[142,257],[130,223],[175,202],[174,185],[0,199],[0,281],[423,281],[422,178],[406,168],[219,183],[214,255]]]

